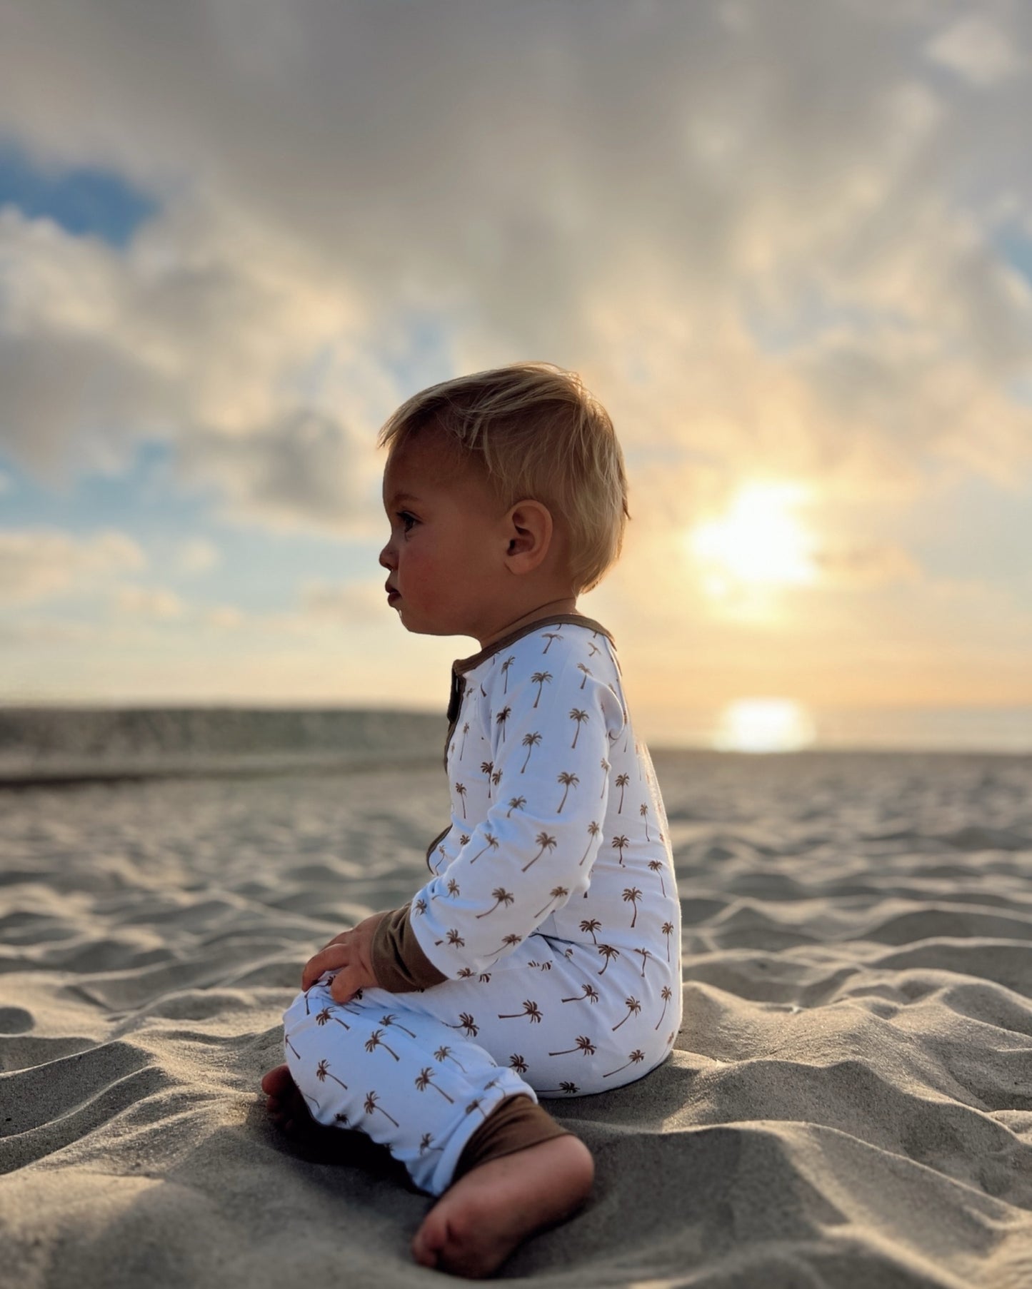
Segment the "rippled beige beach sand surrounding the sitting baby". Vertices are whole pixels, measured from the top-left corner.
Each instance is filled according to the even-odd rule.
[[[588,1207],[504,1279],[1032,1285],[1032,759],[657,755],[685,1023],[550,1102]],[[0,1283],[441,1284],[430,1204],[258,1080],[304,959],[422,882],[440,768],[0,791]]]

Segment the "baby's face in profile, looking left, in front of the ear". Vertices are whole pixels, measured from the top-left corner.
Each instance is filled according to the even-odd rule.
[[[481,639],[504,590],[507,510],[468,465],[441,449],[435,434],[417,434],[387,463],[391,539],[379,554],[390,570],[387,602],[406,630]]]

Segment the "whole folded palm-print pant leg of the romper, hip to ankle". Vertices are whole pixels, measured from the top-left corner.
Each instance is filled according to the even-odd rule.
[[[317,1123],[365,1132],[440,1195],[502,1101],[609,1090],[667,1056],[680,987],[668,1005],[663,968],[628,958],[531,936],[472,978],[343,1005],[325,973],[284,1013],[286,1062]]]

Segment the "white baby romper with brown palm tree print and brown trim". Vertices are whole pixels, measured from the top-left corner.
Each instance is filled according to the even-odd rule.
[[[501,1102],[640,1079],[681,1023],[666,812],[608,632],[566,615],[459,660],[449,717],[452,822],[374,942],[393,987],[341,1005],[328,972],[284,1013],[313,1118],[433,1195]]]

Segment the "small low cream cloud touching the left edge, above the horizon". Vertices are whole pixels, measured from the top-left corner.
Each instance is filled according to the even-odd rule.
[[[46,528],[0,532],[0,599],[86,594],[116,574],[143,568],[146,562],[124,532],[85,539]]]

